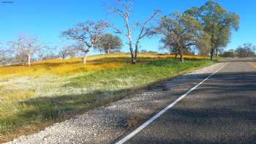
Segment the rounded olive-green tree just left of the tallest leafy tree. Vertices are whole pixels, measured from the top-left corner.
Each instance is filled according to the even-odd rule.
[[[203,47],[200,40],[207,40],[200,22],[185,13],[173,12],[162,17],[157,31],[164,36],[160,42],[177,53],[181,62],[184,62],[184,53],[199,44]]]

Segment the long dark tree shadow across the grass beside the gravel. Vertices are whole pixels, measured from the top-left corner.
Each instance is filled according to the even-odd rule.
[[[21,107],[32,107],[31,110],[18,114],[20,118],[40,118],[44,120],[55,120],[64,115],[75,115],[95,107],[115,102],[124,97],[124,93],[131,91],[124,89],[120,91],[93,91],[88,94],[70,94],[62,96],[45,96],[28,99],[19,102]],[[118,95],[118,96],[117,96]]]

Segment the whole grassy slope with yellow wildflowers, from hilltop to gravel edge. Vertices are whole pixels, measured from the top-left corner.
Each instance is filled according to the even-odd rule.
[[[0,142],[30,134],[94,107],[124,98],[159,80],[213,64],[206,57],[143,53],[40,61],[31,67],[0,67]]]

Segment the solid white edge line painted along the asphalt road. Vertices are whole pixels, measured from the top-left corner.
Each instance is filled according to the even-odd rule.
[[[227,63],[228,64],[228,63]],[[214,73],[212,73],[211,75],[209,75],[208,77],[206,77],[206,79],[204,79],[203,81],[201,81],[200,83],[198,83],[196,86],[194,86],[193,88],[189,89],[189,91],[187,91],[187,93],[183,94],[182,96],[178,97],[178,99],[176,99],[176,101],[172,102],[170,105],[168,105],[167,107],[165,107],[165,109],[159,111],[159,113],[157,113],[156,115],[154,115],[153,117],[151,117],[150,119],[148,119],[148,121],[146,121],[144,124],[140,125],[137,129],[135,129],[134,131],[132,131],[131,133],[129,133],[126,137],[122,138],[121,140],[119,140],[116,144],[123,144],[125,142],[127,142],[127,140],[129,140],[130,138],[134,137],[135,134],[138,134],[138,132],[140,132],[142,129],[144,129],[146,126],[148,126],[149,124],[151,124],[154,120],[156,120],[157,118],[159,118],[159,116],[161,116],[162,114],[164,114],[167,110],[169,110],[171,107],[173,107],[174,105],[177,104],[177,102],[181,101],[181,99],[183,99],[185,96],[187,96],[189,93],[191,93],[192,91],[194,91],[198,86],[200,86],[202,83],[204,83],[206,80],[208,80],[211,76],[213,76],[214,74],[216,74],[217,72],[219,72],[220,69],[222,69],[223,67],[225,67],[227,64],[224,64],[222,67],[220,67],[219,69],[217,69]]]

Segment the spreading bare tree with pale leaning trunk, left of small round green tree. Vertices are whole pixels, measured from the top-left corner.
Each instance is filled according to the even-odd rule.
[[[106,27],[108,24],[103,20],[98,22],[88,20],[86,23],[78,23],[74,28],[64,31],[62,36],[78,42],[78,50],[83,52],[83,64],[86,64],[88,53],[97,45]]]

